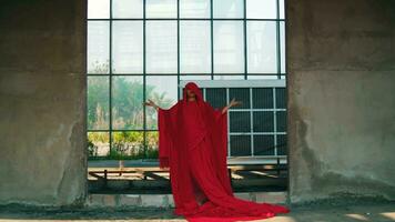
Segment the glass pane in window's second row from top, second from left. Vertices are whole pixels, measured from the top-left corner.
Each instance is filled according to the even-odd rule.
[[[113,21],[112,72],[143,72],[142,21]]]

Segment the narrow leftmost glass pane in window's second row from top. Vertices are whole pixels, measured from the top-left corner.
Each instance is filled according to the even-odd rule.
[[[109,24],[108,21],[88,21],[88,73],[109,73]]]

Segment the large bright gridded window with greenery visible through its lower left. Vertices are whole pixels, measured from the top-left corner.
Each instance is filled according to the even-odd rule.
[[[181,80],[284,79],[284,0],[89,0],[91,157],[156,158]],[[261,113],[257,113],[261,114]]]

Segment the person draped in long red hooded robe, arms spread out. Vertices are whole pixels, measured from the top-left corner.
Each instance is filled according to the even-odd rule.
[[[176,215],[188,221],[240,221],[272,218],[290,210],[282,205],[256,203],[233,194],[226,167],[227,109],[205,102],[194,82],[183,89],[183,99],[158,110],[159,164],[170,170]]]

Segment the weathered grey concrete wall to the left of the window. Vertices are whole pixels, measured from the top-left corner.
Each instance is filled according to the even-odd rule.
[[[1,204],[85,198],[84,4],[1,1]]]

